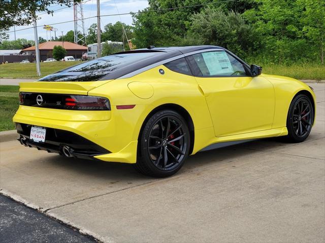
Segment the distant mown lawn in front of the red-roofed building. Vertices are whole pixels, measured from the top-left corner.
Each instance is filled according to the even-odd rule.
[[[46,76],[61,69],[81,63],[81,61],[72,62],[41,62],[42,76]],[[0,77],[35,77],[36,63],[8,63],[0,65]]]

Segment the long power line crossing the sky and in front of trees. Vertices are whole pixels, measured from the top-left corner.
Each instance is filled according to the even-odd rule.
[[[88,1],[90,1],[90,0],[88,0]],[[169,11],[169,10],[175,10],[175,9],[193,8],[193,7],[200,7],[200,6],[214,5],[214,4],[222,4],[222,3],[236,2],[236,1],[238,1],[238,0],[226,0],[226,1],[222,1],[222,2],[216,2],[216,3],[198,4],[198,5],[191,5],[191,6],[168,8],[168,9],[147,10],[147,11],[136,12],[136,13],[129,12],[129,13],[122,13],[122,14],[106,14],[106,15],[101,15],[100,17],[109,17],[109,16],[118,16],[118,15],[131,15],[131,14],[144,14],[144,13],[152,13],[152,12],[162,12],[162,11]],[[91,18],[97,18],[97,16],[91,16],[91,17],[87,17],[87,18],[84,18],[84,19],[91,19]],[[70,22],[74,22],[74,20],[63,21],[63,22],[58,22],[58,23],[52,23],[52,24],[49,24],[49,25],[65,24],[65,23],[70,23]],[[43,25],[39,25],[37,27],[42,27],[42,26]],[[31,28],[33,28],[33,27],[18,29],[16,31],[21,31],[21,30],[31,29]],[[8,31],[8,32],[5,32],[5,33],[12,33],[12,32],[14,32],[14,31]]]

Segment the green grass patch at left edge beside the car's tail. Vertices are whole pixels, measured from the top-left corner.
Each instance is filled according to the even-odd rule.
[[[15,129],[12,117],[19,106],[19,86],[0,85],[0,131]]]

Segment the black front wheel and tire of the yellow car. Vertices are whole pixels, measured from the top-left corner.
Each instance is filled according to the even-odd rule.
[[[314,109],[308,96],[296,96],[289,106],[286,120],[289,142],[300,143],[309,136],[314,121]]]

